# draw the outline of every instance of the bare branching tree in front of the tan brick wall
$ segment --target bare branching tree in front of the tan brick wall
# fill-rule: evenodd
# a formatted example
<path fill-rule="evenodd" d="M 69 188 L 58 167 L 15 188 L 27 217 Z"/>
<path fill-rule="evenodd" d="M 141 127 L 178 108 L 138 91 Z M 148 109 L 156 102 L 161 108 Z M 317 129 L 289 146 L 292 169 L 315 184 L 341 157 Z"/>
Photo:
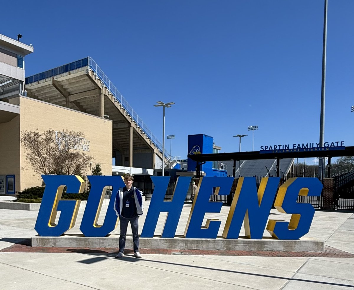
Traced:
<path fill-rule="evenodd" d="M 21 132 L 20 140 L 26 149 L 27 161 L 38 174 L 82 175 L 93 159 L 79 150 L 84 148 L 84 132 L 50 128 L 40 133 L 37 129 Z"/>

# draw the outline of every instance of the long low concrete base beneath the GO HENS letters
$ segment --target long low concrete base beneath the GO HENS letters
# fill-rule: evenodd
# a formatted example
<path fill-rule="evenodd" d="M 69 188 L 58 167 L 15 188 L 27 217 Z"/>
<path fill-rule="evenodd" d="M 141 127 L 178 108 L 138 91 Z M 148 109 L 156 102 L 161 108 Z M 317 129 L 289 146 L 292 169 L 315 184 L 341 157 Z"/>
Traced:
<path fill-rule="evenodd" d="M 178 250 L 226 250 L 226 251 L 291 251 L 291 252 L 323 252 L 325 242 L 301 238 L 300 240 L 277 240 L 263 238 L 252 240 L 247 238 L 224 239 L 186 239 L 175 238 L 140 238 L 142 249 L 178 249 Z M 119 235 L 107 237 L 84 237 L 64 235 L 61 237 L 32 237 L 32 247 L 70 247 L 70 248 L 118 248 Z M 126 237 L 126 248 L 133 248 L 133 239 Z"/>

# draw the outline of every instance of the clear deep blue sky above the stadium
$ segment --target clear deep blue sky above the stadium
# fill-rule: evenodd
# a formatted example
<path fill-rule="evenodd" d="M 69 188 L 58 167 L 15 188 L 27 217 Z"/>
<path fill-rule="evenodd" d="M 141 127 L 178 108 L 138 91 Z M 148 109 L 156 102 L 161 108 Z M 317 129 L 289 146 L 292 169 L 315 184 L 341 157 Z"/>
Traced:
<path fill-rule="evenodd" d="M 319 141 L 324 0 L 5 1 L 1 34 L 32 43 L 26 76 L 91 56 L 172 155 Z M 22 7 L 19 9 L 19 7 Z M 11 13 L 4 13 L 11 11 Z M 17 15 L 17 16 L 16 16 Z M 329 0 L 325 141 L 354 146 L 354 1 Z M 15 17 L 16 16 L 16 17 Z M 4 25 L 5 24 L 5 25 Z M 170 149 L 170 140 L 165 142 Z"/>

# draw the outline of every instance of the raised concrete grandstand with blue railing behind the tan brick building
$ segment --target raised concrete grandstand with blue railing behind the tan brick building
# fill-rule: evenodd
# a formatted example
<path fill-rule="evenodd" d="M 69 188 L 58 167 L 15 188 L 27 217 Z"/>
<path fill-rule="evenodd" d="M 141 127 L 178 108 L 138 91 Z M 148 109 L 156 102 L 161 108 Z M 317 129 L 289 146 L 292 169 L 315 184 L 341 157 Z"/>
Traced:
<path fill-rule="evenodd" d="M 26 77 L 25 88 L 27 97 L 112 120 L 116 167 L 162 164 L 161 142 L 91 57 Z"/>

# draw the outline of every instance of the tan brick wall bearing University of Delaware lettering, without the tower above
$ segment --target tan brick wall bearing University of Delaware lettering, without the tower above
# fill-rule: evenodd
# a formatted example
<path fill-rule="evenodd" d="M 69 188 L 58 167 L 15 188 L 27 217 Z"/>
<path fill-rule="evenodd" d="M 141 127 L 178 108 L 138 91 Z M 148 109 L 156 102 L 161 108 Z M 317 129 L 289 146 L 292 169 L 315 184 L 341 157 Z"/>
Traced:
<path fill-rule="evenodd" d="M 101 164 L 103 175 L 112 175 L 112 121 L 24 96 L 12 98 L 10 102 L 16 105 L 0 104 L 3 114 L 7 110 L 11 113 L 7 115 L 13 117 L 6 120 L 2 117 L 3 121 L 11 120 L 0 123 L 0 175 L 15 176 L 15 192 L 42 183 L 26 161 L 26 151 L 20 143 L 21 132 L 25 130 L 44 132 L 52 128 L 84 132 L 82 142 L 85 144 L 79 150 L 93 156 L 93 165 Z M 90 174 L 90 170 L 86 174 Z"/>

